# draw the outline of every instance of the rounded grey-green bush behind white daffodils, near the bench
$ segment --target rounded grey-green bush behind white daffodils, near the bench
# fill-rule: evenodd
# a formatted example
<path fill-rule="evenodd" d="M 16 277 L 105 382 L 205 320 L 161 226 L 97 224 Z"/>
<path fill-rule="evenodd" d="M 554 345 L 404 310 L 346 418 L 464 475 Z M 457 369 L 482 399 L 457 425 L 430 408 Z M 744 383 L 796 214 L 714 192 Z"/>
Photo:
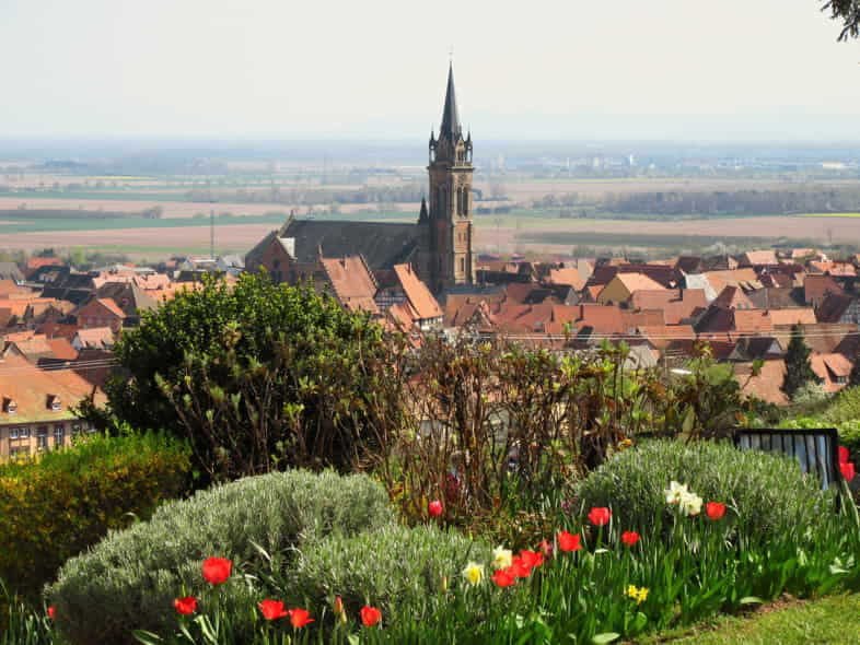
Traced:
<path fill-rule="evenodd" d="M 608 506 L 625 518 L 628 530 L 651 533 L 669 524 L 663 491 L 672 480 L 688 484 L 706 502 L 729 505 L 747 539 L 803 531 L 823 508 L 833 507 L 829 494 L 801 472 L 797 460 L 742 452 L 728 442 L 648 442 L 604 464 L 577 490 L 584 508 Z"/>

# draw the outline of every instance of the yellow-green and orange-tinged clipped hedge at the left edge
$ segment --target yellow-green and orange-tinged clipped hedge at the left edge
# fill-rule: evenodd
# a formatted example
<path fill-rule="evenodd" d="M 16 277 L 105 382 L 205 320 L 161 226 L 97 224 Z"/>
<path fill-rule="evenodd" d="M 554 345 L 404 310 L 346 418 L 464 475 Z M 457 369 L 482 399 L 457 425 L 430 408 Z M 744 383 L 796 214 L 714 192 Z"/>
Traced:
<path fill-rule="evenodd" d="M 31 599 L 109 529 L 183 492 L 188 450 L 164 435 L 93 435 L 0 467 L 0 579 Z"/>

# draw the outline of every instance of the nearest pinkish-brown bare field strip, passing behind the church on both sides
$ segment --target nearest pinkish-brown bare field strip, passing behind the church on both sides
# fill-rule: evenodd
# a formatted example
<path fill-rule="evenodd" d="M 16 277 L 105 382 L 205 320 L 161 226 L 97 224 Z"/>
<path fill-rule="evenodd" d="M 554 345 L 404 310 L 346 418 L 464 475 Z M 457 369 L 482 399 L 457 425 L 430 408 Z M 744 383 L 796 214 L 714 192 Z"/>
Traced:
<path fill-rule="evenodd" d="M 319 215 L 332 221 L 352 219 L 348 213 Z M 358 219 L 358 218 L 355 218 Z M 391 212 L 365 216 L 375 221 L 411 221 L 412 213 Z M 143 224 L 146 222 L 146 224 Z M 216 220 L 216 248 L 220 253 L 246 253 L 280 218 Z M 253 223 L 252 223 L 253 222 Z M 68 221 L 62 222 L 68 224 Z M 13 222 L 11 225 L 20 225 Z M 39 226 L 45 221 L 37 223 Z M 55 224 L 59 225 L 57 222 Z M 77 223 L 75 223 L 77 224 Z M 135 251 L 147 258 L 199 253 L 209 247 L 207 220 L 137 220 L 81 222 L 86 228 L 12 231 L 0 225 L 0 248 L 58 249 L 84 247 Z M 112 225 L 114 227 L 112 227 Z M 118 226 L 124 227 L 118 227 Z M 569 253 L 577 245 L 648 246 L 708 245 L 713 242 L 769 245 L 777 239 L 820 241 L 860 245 L 860 218 L 743 218 L 647 222 L 628 220 L 561 220 L 557 218 L 504 218 L 498 225 L 490 216 L 476 218 L 476 247 L 481 251 L 535 250 Z M 5 228 L 5 232 L 4 232 Z"/>

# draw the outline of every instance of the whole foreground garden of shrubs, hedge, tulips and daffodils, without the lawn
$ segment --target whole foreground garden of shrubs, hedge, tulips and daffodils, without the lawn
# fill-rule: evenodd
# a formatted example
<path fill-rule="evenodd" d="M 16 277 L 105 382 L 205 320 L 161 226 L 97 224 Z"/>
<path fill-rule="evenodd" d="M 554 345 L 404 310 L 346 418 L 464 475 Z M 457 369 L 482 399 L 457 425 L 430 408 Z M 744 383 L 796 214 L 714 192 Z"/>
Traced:
<path fill-rule="evenodd" d="M 611 643 L 860 590 L 850 491 L 727 441 L 776 411 L 707 348 L 670 378 L 625 351 L 416 345 L 256 279 L 179 296 L 84 410 L 104 435 L 0 468 L 0 643 Z"/>

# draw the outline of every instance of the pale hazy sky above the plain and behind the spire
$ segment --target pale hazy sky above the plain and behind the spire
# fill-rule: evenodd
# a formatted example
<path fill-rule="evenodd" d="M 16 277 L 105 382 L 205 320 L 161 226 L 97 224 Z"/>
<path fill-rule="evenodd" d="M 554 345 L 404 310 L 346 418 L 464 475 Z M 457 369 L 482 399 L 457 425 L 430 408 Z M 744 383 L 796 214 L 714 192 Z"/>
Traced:
<path fill-rule="evenodd" d="M 860 140 L 818 0 L 0 0 L 0 137 Z"/>

